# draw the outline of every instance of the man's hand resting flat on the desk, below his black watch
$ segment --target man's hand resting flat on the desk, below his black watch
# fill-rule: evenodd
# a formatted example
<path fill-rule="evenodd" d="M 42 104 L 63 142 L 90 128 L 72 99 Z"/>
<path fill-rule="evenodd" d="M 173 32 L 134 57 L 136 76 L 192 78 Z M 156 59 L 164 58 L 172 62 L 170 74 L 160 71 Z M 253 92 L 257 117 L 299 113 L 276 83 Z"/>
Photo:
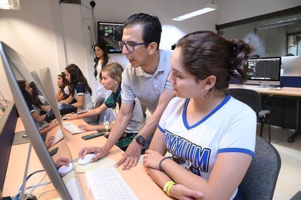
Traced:
<path fill-rule="evenodd" d="M 130 169 L 138 164 L 141 155 L 142 146 L 134 139 L 127 147 L 127 151 L 123 154 L 123 157 L 115 165 L 118 168 L 121 164 L 122 170 Z"/>

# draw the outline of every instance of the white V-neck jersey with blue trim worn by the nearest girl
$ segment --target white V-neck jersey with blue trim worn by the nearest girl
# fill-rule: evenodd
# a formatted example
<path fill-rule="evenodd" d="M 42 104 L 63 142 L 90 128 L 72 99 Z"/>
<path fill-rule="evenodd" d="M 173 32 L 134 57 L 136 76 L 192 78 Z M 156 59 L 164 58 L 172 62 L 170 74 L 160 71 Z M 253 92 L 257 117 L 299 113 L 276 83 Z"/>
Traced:
<path fill-rule="evenodd" d="M 167 151 L 181 157 L 184 168 L 208 180 L 217 154 L 254 156 L 256 114 L 252 108 L 227 95 L 204 119 L 190 126 L 186 118 L 189 100 L 174 97 L 158 125 Z"/>

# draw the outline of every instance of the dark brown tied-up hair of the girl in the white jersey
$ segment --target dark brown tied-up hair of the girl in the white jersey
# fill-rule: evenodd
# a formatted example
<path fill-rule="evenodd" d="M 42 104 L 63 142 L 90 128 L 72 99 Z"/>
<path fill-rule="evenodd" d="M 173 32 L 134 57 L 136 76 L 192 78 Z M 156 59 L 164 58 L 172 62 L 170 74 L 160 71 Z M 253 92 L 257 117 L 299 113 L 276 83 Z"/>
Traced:
<path fill-rule="evenodd" d="M 229 87 L 230 76 L 238 78 L 240 84 L 247 77 L 248 55 L 253 48 L 238 39 L 226 40 L 212 31 L 196 31 L 182 37 L 180 47 L 185 68 L 196 77 L 196 81 L 215 76 L 216 90 Z"/>

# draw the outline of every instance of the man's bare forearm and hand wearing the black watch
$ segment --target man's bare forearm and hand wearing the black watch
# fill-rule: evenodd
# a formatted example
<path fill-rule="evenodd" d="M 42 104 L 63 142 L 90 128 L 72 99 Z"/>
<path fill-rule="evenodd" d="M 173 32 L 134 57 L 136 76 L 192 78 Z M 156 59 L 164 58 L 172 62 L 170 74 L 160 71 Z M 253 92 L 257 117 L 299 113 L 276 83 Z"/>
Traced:
<path fill-rule="evenodd" d="M 174 98 L 174 91 L 165 88 L 163 92 L 161 93 L 158 101 L 158 106 L 151 116 L 151 118 L 146 122 L 146 124 L 143 126 L 142 130 L 139 132 L 138 135 L 142 136 L 145 140 L 153 133 L 155 133 L 159 120 L 167 107 L 168 103 L 172 98 Z M 130 169 L 131 167 L 135 167 L 138 163 L 138 160 L 141 155 L 142 145 L 138 144 L 136 140 L 134 139 L 127 147 L 127 151 L 123 155 L 123 158 L 121 158 L 117 164 L 116 167 L 119 167 L 121 164 L 123 164 L 122 169 Z"/>

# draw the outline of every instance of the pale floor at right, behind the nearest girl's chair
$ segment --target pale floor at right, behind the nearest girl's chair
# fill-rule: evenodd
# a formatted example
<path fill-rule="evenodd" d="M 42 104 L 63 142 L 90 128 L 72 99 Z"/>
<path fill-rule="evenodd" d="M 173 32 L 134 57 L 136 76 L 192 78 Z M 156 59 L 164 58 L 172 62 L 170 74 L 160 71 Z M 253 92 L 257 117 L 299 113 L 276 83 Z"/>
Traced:
<path fill-rule="evenodd" d="M 263 132 L 263 137 L 268 140 L 267 125 L 264 125 Z M 271 143 L 279 152 L 282 162 L 273 200 L 290 200 L 301 190 L 301 135 L 293 143 L 286 141 L 294 132 L 293 129 L 271 126 Z M 139 162 L 143 162 L 143 155 Z"/>

